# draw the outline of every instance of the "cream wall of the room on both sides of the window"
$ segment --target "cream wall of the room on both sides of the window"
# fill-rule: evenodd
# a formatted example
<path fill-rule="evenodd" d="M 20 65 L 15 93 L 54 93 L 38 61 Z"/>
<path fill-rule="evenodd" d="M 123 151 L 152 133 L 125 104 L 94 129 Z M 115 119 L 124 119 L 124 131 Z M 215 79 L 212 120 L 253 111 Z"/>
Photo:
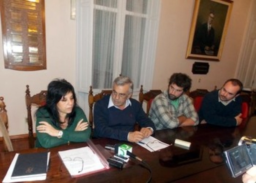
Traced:
<path fill-rule="evenodd" d="M 251 1 L 234 0 L 221 61 L 208 62 L 207 75 L 193 75 L 192 64 L 199 60 L 187 60 L 185 55 L 195 1 L 162 0 L 153 89 L 166 89 L 168 78 L 174 72 L 189 74 L 193 80 L 192 89 L 211 90 L 215 85 L 221 86 L 227 78 L 234 77 Z M 76 21 L 70 20 L 70 0 L 45 0 L 45 14 L 47 70 L 4 69 L 0 44 L 0 96 L 5 98 L 11 135 L 28 132 L 25 123 L 26 84 L 29 84 L 31 94 L 35 94 L 46 89 L 52 79 L 63 77 L 76 88 Z M 199 78 L 201 83 L 197 82 Z M 85 114 L 88 116 L 88 111 Z"/>

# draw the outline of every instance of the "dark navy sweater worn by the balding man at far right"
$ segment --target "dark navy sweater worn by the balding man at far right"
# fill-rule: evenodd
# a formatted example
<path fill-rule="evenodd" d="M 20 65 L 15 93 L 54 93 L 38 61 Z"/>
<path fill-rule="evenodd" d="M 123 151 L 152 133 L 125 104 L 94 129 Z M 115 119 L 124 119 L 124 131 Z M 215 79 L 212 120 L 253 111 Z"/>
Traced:
<path fill-rule="evenodd" d="M 218 90 L 209 92 L 204 96 L 199 110 L 199 120 L 205 120 L 209 124 L 218 126 L 236 126 L 235 117 L 241 113 L 241 96 L 236 97 L 224 106 L 218 101 Z"/>

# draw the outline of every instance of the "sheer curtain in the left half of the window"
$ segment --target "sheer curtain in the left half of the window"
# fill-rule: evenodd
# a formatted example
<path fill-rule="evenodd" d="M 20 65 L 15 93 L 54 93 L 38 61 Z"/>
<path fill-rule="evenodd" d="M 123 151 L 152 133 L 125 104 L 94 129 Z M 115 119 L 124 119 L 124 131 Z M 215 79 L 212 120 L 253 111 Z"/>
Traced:
<path fill-rule="evenodd" d="M 93 11 L 93 88 L 110 88 L 113 81 L 114 44 L 116 34 L 116 0 L 94 0 L 99 9 Z"/>

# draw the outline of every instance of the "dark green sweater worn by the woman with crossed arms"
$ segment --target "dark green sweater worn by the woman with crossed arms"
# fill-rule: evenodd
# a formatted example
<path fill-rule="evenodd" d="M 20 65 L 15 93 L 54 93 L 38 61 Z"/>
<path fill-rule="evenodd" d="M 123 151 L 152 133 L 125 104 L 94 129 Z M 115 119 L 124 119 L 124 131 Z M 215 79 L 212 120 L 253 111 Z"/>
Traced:
<path fill-rule="evenodd" d="M 91 129 L 88 128 L 84 131 L 76 131 L 76 125 L 81 120 L 87 121 L 87 118 L 83 112 L 83 110 L 79 107 L 75 107 L 76 117 L 74 118 L 73 123 L 68 126 L 66 129 L 61 129 L 60 127 L 56 127 L 52 123 L 52 118 L 49 116 L 49 113 L 45 108 L 41 108 L 36 112 L 36 126 L 39 126 L 39 122 L 46 121 L 50 125 L 52 125 L 55 129 L 59 129 L 63 131 L 63 135 L 61 138 L 52 137 L 47 133 L 40 133 L 36 130 L 37 140 L 36 147 L 44 147 L 51 148 L 55 146 L 60 146 L 62 144 L 67 144 L 68 142 L 86 142 L 90 138 Z"/>

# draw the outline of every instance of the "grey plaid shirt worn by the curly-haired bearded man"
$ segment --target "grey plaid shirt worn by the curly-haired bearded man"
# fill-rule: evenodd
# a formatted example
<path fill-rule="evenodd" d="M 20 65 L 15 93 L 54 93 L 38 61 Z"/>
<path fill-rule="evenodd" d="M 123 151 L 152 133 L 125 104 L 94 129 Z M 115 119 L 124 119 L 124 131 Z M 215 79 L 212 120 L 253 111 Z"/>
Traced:
<path fill-rule="evenodd" d="M 191 118 L 198 125 L 198 114 L 195 111 L 192 100 L 182 94 L 179 98 L 177 109 L 170 103 L 167 90 L 154 98 L 149 110 L 149 117 L 154 122 L 157 130 L 174 129 L 179 126 L 177 117 L 185 116 Z"/>

